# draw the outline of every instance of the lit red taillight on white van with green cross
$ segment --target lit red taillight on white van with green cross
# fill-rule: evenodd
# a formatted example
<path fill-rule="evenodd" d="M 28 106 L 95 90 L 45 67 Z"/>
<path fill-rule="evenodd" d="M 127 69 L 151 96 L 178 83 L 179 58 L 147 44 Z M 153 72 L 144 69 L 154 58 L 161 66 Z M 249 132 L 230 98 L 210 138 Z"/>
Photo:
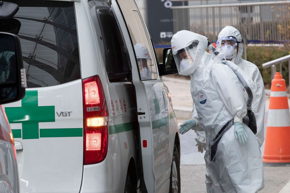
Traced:
<path fill-rule="evenodd" d="M 83 80 L 84 164 L 96 164 L 108 151 L 108 110 L 99 76 Z"/>

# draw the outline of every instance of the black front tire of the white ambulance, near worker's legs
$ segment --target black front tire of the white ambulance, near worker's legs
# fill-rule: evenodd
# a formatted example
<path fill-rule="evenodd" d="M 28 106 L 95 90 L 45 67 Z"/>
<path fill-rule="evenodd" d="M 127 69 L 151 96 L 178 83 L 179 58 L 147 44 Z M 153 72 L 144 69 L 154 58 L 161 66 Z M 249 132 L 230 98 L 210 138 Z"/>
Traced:
<path fill-rule="evenodd" d="M 180 193 L 180 159 L 176 145 L 174 145 L 171 172 L 170 172 L 170 185 L 169 193 Z M 173 172 L 173 173 L 172 173 Z"/>

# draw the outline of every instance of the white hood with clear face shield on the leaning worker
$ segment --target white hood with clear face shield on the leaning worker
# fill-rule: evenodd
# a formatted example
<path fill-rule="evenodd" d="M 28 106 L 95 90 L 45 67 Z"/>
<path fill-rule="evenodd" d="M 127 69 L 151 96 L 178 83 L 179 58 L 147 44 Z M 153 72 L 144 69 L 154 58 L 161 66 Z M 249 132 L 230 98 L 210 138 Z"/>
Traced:
<path fill-rule="evenodd" d="M 205 54 L 207 46 L 208 39 L 206 36 L 187 30 L 182 30 L 174 34 L 171 39 L 172 54 L 180 75 L 188 76 L 194 73 Z M 192 59 L 189 67 L 186 69 L 180 65 L 181 59 L 179 59 L 179 54 L 181 52 L 186 52 Z"/>

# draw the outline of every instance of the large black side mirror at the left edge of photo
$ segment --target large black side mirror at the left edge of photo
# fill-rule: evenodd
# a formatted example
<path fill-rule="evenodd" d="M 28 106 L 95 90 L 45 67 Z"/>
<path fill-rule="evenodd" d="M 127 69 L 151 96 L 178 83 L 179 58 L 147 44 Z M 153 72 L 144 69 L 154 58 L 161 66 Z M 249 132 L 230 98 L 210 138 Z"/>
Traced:
<path fill-rule="evenodd" d="M 25 75 L 18 36 L 0 32 L 0 104 L 24 97 Z"/>

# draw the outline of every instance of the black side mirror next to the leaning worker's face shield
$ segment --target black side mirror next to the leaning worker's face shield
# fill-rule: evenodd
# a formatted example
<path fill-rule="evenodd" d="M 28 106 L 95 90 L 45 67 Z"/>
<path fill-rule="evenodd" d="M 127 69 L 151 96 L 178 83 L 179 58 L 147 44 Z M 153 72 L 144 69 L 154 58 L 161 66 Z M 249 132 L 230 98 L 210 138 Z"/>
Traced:
<path fill-rule="evenodd" d="M 161 73 L 160 73 L 161 71 Z M 163 64 L 159 64 L 159 75 L 165 76 L 170 74 L 177 74 L 178 70 L 172 55 L 171 48 L 163 49 Z"/>

